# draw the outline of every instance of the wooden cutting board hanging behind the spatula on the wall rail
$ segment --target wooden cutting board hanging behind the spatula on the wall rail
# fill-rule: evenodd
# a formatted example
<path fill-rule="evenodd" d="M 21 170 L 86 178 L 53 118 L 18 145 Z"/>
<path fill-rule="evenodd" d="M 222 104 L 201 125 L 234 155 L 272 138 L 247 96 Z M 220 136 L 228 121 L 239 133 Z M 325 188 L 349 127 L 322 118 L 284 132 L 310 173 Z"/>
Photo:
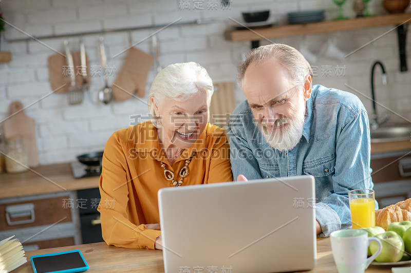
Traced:
<path fill-rule="evenodd" d="M 74 75 L 76 75 L 76 83 L 78 86 L 83 85 L 83 76 L 81 75 L 81 62 L 80 62 L 80 52 L 72 52 L 73 55 L 73 63 L 74 63 Z M 66 57 L 60 54 L 53 54 L 48 57 L 48 73 L 49 73 L 49 82 L 51 86 L 51 90 L 56 90 L 64 83 L 67 85 L 55 93 L 66 93 L 68 88 L 70 87 L 70 76 L 69 74 L 65 73 L 65 69 L 67 67 Z M 86 67 L 87 67 L 87 83 L 86 87 L 90 87 L 90 66 L 88 65 L 88 57 L 86 54 Z M 101 76 L 103 76 L 104 71 L 101 71 Z M 65 75 L 66 74 L 66 75 Z"/>

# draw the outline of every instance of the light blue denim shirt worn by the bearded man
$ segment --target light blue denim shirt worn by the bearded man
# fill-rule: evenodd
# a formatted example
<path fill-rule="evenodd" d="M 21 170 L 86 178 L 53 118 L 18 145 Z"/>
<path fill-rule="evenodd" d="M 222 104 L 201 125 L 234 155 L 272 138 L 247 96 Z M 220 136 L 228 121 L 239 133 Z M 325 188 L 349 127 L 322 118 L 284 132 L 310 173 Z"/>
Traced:
<path fill-rule="evenodd" d="M 281 152 L 267 143 L 248 101 L 242 102 L 228 122 L 231 165 L 235 179 L 313 175 L 315 216 L 324 237 L 351 226 L 348 191 L 373 187 L 369 121 L 357 96 L 320 85 L 312 87 L 305 118 L 300 142 Z"/>

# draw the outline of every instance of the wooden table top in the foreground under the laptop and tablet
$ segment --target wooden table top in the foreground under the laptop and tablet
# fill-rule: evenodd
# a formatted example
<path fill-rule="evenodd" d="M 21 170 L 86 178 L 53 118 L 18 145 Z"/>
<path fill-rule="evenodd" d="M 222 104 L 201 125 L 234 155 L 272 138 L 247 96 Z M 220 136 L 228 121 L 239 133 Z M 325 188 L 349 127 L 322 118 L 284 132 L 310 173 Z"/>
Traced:
<path fill-rule="evenodd" d="M 34 255 L 57 253 L 78 249 L 89 265 L 87 272 L 164 272 L 163 255 L 161 250 L 130 249 L 108 246 L 106 243 L 73 245 L 58 248 L 27 251 L 26 257 Z M 33 272 L 28 261 L 13 270 L 15 273 Z M 317 266 L 306 272 L 330 273 L 337 272 L 332 257 L 330 239 L 317 240 Z M 391 267 L 370 265 L 366 273 L 391 272 Z"/>

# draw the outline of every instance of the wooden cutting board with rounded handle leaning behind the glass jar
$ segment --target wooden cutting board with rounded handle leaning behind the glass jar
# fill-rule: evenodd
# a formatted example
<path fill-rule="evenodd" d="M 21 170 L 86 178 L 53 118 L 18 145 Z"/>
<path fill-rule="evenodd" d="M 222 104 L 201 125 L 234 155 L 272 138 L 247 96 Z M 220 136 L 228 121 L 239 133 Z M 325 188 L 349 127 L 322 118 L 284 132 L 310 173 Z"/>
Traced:
<path fill-rule="evenodd" d="M 23 104 L 20 101 L 13 101 L 10 104 L 11 117 L 3 122 L 4 138 L 7 141 L 14 137 L 23 137 L 29 167 L 36 167 L 39 165 L 39 152 L 35 136 L 35 121 L 26 116 L 22 109 Z"/>

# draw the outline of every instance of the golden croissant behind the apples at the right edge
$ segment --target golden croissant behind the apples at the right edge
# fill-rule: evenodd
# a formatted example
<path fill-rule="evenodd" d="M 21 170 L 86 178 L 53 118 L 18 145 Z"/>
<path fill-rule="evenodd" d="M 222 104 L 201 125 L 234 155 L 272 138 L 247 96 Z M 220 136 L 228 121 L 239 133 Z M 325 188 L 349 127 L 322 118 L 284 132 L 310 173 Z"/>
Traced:
<path fill-rule="evenodd" d="M 385 230 L 390 223 L 402 221 L 411 221 L 411 198 L 376 211 L 376 226 L 381 226 Z"/>

